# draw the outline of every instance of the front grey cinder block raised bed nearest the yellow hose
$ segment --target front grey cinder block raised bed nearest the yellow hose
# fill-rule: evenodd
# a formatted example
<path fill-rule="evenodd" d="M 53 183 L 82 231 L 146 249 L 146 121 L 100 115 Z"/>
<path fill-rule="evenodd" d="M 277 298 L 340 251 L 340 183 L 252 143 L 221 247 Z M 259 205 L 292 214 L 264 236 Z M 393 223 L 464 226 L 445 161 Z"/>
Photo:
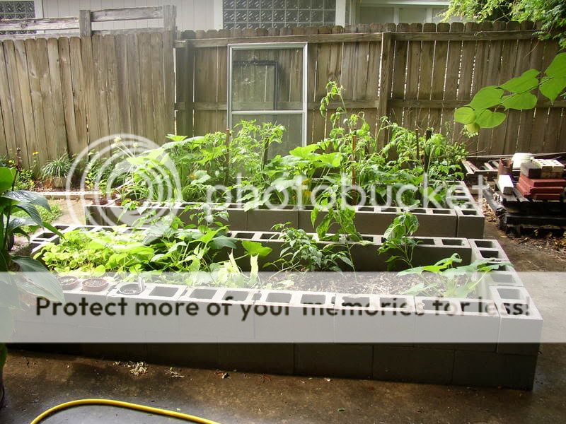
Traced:
<path fill-rule="evenodd" d="M 275 251 L 278 241 L 272 240 L 273 234 L 243 236 L 267 240 Z M 35 249 L 47 240 L 57 242 L 48 236 L 33 240 Z M 430 244 L 420 245 L 428 264 L 435 249 L 440 257 L 459 249 L 464 263 L 488 258 L 501 261 L 502 268 L 492 271 L 478 293 L 466 299 L 173 284 L 147 284 L 140 293 L 122 293 L 122 287 L 131 283 L 110 285 L 106 292 L 95 294 L 79 286 L 67 290 L 66 296 L 87 300 L 98 296 L 106 302 L 137 299 L 171 307 L 194 303 L 199 311 L 225 308 L 230 314 L 202 312 L 154 322 L 152 317 L 134 321 L 126 317 L 112 328 L 97 327 L 96 321 L 88 319 L 74 324 L 46 317 L 33 322 L 33 334 L 40 339 L 42 326 L 51 330 L 60 326 L 68 334 L 77 334 L 78 327 L 88 323 L 108 343 L 83 344 L 83 355 L 249 372 L 531 389 L 542 318 L 519 276 L 505 264 L 507 256 L 499 244 L 429 238 Z M 374 240 L 379 242 L 378 237 Z M 373 269 L 366 265 L 365 270 L 383 270 L 376 256 L 374 246 Z M 249 311 L 246 319 L 243 308 Z M 25 323 L 17 321 L 18 328 Z M 68 334 L 62 335 L 62 341 L 82 340 Z M 115 341 L 132 343 L 111 343 Z"/>

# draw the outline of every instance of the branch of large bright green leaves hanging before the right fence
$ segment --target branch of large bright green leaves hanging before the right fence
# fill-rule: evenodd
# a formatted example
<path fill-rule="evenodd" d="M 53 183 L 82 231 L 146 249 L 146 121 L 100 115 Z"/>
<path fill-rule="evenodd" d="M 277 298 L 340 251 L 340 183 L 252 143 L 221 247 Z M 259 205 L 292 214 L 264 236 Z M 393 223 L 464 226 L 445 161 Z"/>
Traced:
<path fill-rule="evenodd" d="M 477 134 L 482 128 L 493 128 L 502 124 L 507 110 L 527 110 L 536 107 L 536 92 L 550 102 L 559 95 L 565 95 L 566 53 L 559 53 L 548 68 L 541 73 L 529 69 L 500 86 L 487 86 L 475 93 L 472 100 L 454 112 L 456 122 L 466 125 L 470 134 Z M 534 91 L 534 93 L 533 93 Z"/>

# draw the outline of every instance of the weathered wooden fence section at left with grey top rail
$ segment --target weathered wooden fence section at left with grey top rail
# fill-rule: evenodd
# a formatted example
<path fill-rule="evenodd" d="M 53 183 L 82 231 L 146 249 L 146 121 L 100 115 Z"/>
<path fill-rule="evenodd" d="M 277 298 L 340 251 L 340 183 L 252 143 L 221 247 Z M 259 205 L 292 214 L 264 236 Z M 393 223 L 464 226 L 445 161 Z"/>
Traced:
<path fill-rule="evenodd" d="M 91 23 L 163 18 L 163 28 L 93 31 Z M 160 142 L 174 128 L 173 6 L 9 20 L 0 30 L 0 154 L 39 165 L 112 134 Z M 62 33 L 67 31 L 67 33 Z"/>

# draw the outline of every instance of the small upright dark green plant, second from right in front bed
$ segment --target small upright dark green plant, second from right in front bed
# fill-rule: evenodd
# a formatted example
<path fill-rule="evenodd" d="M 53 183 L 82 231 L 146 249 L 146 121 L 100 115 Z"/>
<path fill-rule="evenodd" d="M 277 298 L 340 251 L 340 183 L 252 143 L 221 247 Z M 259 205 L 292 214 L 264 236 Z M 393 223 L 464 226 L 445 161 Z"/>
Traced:
<path fill-rule="evenodd" d="M 410 212 L 404 212 L 393 219 L 383 233 L 383 240 L 378 249 L 380 254 L 388 253 L 388 269 L 394 269 L 400 262 L 403 266 L 412 266 L 412 253 L 417 241 L 412 235 L 419 229 L 419 220 Z"/>

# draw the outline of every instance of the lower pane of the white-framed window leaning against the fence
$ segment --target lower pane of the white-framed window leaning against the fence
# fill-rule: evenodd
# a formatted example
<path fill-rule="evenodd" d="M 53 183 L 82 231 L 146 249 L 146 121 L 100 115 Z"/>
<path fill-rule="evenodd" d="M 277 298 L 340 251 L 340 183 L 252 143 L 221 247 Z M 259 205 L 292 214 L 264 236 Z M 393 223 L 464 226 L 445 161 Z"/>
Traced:
<path fill-rule="evenodd" d="M 288 155 L 291 149 L 302 146 L 303 122 L 301 114 L 279 114 L 279 115 L 238 115 L 232 116 L 232 126 L 234 131 L 238 131 L 236 124 L 241 120 L 251 121 L 255 119 L 256 124 L 272 122 L 273 124 L 283 125 L 286 131 L 283 134 L 281 144 L 273 144 L 269 148 L 269 158 L 275 155 Z"/>

